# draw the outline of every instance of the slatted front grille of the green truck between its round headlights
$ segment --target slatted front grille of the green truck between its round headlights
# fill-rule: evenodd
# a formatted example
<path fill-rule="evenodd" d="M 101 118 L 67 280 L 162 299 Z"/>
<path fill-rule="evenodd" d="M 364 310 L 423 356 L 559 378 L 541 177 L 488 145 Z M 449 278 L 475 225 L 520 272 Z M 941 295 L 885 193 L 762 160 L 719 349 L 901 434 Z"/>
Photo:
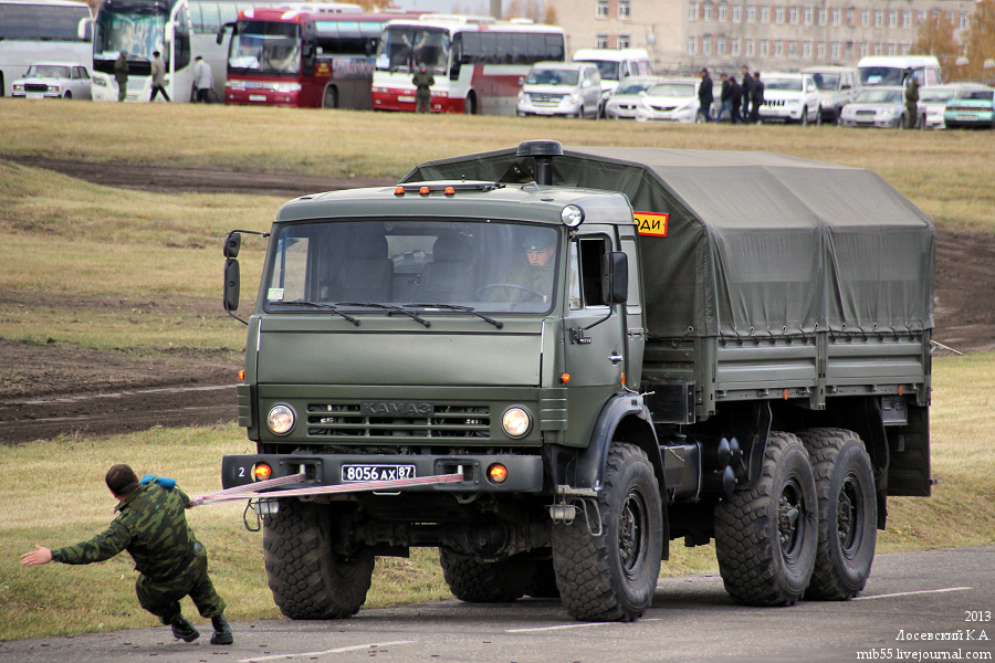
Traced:
<path fill-rule="evenodd" d="M 398 438 L 483 441 L 491 436 L 491 409 L 437 404 L 430 417 L 390 417 L 363 413 L 358 403 L 308 403 L 307 434 L 343 442 L 397 442 Z"/>

